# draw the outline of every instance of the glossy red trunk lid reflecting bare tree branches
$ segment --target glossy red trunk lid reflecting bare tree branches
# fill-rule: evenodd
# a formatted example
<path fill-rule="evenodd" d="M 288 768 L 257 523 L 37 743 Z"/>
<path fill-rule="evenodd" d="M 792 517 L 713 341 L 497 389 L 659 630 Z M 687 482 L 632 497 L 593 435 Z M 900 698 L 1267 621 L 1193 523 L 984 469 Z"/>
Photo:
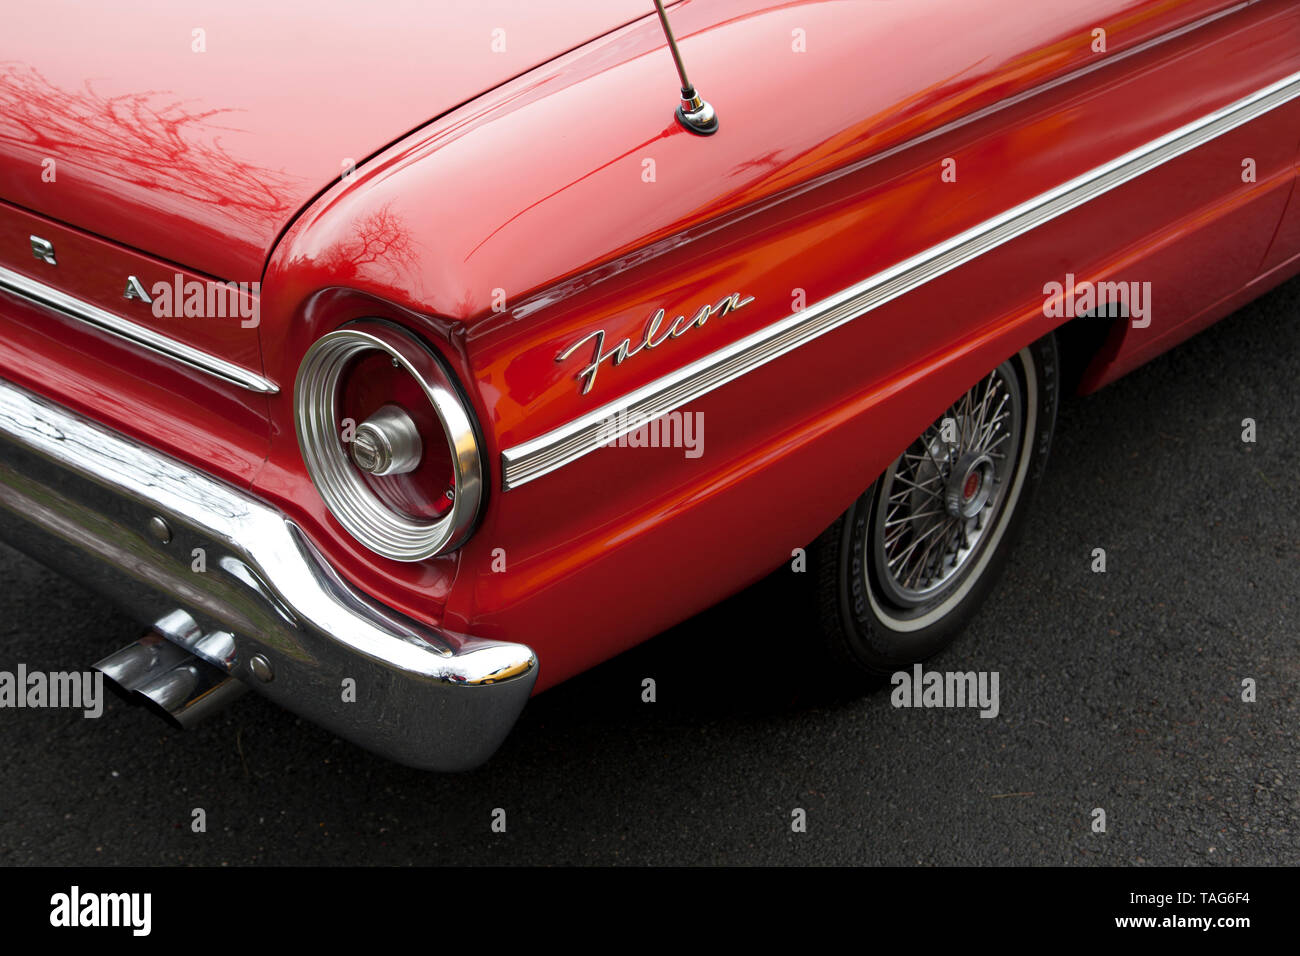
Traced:
<path fill-rule="evenodd" d="M 650 13 L 644 0 L 21 5 L 0 33 L 0 199 L 251 282 L 351 164 Z"/>

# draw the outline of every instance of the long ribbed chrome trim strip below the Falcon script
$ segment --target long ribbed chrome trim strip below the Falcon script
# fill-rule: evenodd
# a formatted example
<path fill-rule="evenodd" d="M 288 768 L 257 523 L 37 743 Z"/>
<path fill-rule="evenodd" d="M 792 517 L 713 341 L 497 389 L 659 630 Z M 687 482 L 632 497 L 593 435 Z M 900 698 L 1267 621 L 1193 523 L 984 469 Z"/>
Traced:
<path fill-rule="evenodd" d="M 506 449 L 502 453 L 502 485 L 510 490 L 562 468 L 602 444 L 722 388 L 1296 98 L 1300 98 L 1300 73 L 1153 139 L 581 418 Z M 620 415 L 624 418 L 618 419 Z"/>

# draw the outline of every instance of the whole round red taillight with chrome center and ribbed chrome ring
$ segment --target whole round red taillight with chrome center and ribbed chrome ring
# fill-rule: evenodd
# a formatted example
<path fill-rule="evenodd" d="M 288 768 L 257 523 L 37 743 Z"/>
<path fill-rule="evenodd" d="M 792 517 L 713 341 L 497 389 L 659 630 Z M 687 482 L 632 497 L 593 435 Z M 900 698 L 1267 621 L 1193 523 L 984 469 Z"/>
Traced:
<path fill-rule="evenodd" d="M 294 386 L 298 445 L 339 524 L 394 561 L 459 546 L 482 493 L 478 441 L 441 360 L 381 321 L 321 337 Z"/>

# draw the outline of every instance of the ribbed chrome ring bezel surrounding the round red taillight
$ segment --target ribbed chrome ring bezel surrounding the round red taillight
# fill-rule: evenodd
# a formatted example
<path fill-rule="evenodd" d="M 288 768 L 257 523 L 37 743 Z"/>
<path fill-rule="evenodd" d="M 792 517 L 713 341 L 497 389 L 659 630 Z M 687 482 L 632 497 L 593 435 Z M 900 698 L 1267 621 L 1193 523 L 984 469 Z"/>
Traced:
<path fill-rule="evenodd" d="M 367 485 L 344 446 L 339 384 L 348 363 L 368 351 L 387 354 L 411 375 L 442 425 L 455 496 L 450 510 L 437 519 L 417 519 L 389 507 Z M 442 360 L 412 333 L 384 320 L 363 320 L 318 338 L 298 367 L 294 427 L 307 473 L 325 506 L 376 554 L 402 562 L 425 561 L 459 548 L 473 532 L 484 489 L 473 419 Z"/>

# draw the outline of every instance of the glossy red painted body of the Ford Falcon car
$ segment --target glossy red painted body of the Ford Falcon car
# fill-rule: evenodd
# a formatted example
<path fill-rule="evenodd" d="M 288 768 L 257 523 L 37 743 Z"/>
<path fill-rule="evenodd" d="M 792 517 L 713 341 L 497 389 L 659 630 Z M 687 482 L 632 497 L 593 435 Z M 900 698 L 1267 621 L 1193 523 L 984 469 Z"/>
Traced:
<path fill-rule="evenodd" d="M 26 7 L 0 38 L 0 265 L 278 392 L 3 285 L 0 378 L 266 503 L 385 607 L 526 645 L 533 692 L 789 561 L 954 395 L 1065 324 L 1045 284 L 1150 284 L 1145 325 L 1066 356 L 1091 390 L 1300 272 L 1287 0 L 682 0 L 707 138 L 673 117 L 640 0 L 74 7 Z M 1132 156 L 1153 165 L 1098 178 Z M 703 414 L 699 458 L 536 454 L 901 264 L 922 268 L 897 294 L 672 406 Z M 127 274 L 177 273 L 260 282 L 259 324 L 122 298 Z M 590 339 L 556 360 L 733 295 L 751 302 L 603 362 L 589 390 Z M 354 538 L 295 436 L 304 354 L 363 317 L 426 341 L 481 432 L 477 527 L 426 561 Z"/>

